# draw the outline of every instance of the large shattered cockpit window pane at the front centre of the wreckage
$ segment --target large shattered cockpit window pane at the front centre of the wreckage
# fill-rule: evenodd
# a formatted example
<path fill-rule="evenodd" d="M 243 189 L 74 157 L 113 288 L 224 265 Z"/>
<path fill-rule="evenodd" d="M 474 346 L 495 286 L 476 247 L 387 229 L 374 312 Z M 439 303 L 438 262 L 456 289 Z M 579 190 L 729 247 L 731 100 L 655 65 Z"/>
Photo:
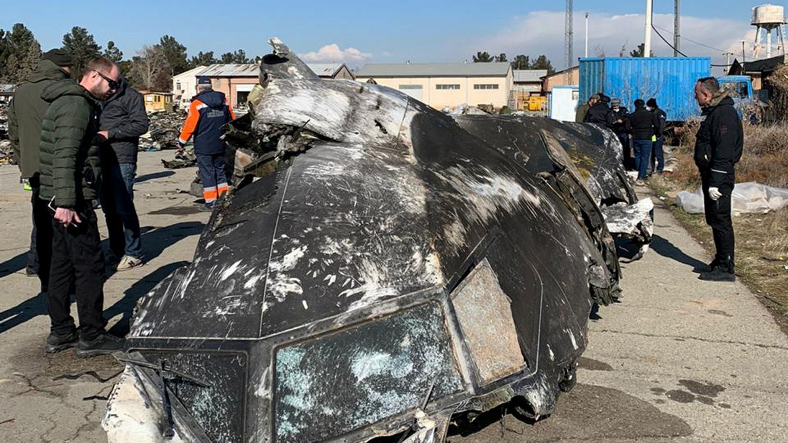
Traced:
<path fill-rule="evenodd" d="M 276 377 L 277 443 L 336 437 L 463 389 L 437 303 L 281 348 Z"/>

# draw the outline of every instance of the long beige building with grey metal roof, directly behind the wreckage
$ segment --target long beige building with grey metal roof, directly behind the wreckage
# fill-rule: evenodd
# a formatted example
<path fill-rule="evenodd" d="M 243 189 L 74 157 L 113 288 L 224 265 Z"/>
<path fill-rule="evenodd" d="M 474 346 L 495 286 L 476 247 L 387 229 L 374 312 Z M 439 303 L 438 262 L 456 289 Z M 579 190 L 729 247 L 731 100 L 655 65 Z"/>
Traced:
<path fill-rule="evenodd" d="M 358 81 L 403 91 L 437 109 L 471 106 L 507 106 L 512 69 L 507 62 L 488 63 L 370 63 L 355 74 Z"/>

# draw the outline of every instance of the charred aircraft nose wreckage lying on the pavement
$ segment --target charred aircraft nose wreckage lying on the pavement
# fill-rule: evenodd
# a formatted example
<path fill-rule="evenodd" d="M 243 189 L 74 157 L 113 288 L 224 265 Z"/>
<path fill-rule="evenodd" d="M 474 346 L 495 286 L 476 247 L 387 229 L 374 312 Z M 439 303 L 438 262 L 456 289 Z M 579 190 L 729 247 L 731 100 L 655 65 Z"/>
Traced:
<path fill-rule="evenodd" d="M 600 205 L 637 197 L 615 137 L 448 116 L 270 43 L 228 134 L 258 178 L 140 300 L 109 440 L 427 442 L 507 402 L 550 414 L 620 292 Z"/>

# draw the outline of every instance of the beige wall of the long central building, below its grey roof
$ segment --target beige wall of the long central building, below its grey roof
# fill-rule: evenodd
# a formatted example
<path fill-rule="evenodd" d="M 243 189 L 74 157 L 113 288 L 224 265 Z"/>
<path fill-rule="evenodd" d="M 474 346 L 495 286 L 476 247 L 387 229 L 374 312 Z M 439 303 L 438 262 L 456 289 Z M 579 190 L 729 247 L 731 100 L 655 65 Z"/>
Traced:
<path fill-rule="evenodd" d="M 366 82 L 370 77 L 357 77 Z M 391 87 L 416 96 L 413 89 L 403 89 L 403 85 L 421 85 L 421 101 L 436 109 L 467 103 L 471 106 L 492 105 L 496 108 L 506 106 L 511 91 L 511 70 L 506 77 L 374 77 L 377 84 Z M 496 85 L 497 89 L 476 89 L 474 85 Z M 452 89 L 438 89 L 438 85 L 451 85 Z M 455 89 L 459 85 L 459 89 Z M 418 91 L 418 90 L 417 90 Z"/>

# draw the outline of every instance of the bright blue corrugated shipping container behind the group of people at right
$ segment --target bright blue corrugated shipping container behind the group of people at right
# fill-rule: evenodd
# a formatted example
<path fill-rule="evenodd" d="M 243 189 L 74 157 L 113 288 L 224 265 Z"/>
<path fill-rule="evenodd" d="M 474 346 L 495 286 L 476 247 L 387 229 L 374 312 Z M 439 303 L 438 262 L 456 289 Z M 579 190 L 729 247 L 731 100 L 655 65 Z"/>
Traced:
<path fill-rule="evenodd" d="M 653 97 L 668 121 L 686 121 L 701 114 L 694 87 L 711 76 L 711 64 L 708 57 L 581 58 L 580 100 L 602 92 L 632 112 L 635 99 Z"/>

